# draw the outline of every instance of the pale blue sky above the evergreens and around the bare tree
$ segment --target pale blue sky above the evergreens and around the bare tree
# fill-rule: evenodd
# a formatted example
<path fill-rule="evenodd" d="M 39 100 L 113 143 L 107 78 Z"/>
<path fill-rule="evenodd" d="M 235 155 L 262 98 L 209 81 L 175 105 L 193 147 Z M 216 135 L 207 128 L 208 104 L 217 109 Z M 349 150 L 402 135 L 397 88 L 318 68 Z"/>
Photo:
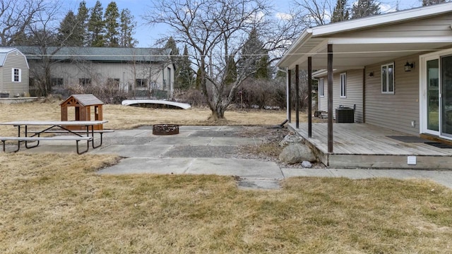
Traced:
<path fill-rule="evenodd" d="M 80 0 L 61 0 L 64 3 L 62 10 L 67 13 L 67 11 L 72 10 L 74 13 L 77 12 L 78 5 Z M 97 0 L 85 0 L 86 6 L 91 8 L 95 5 Z M 107 8 L 108 4 L 112 0 L 100 0 L 102 7 Z M 134 37 L 138 40 L 138 47 L 155 47 L 155 42 L 163 37 L 165 34 L 165 27 L 163 25 L 157 25 L 154 28 L 151 28 L 149 25 L 145 25 L 142 20 L 142 16 L 145 14 L 145 11 L 150 8 L 153 0 L 116 0 L 116 4 L 119 8 L 119 11 L 128 8 L 132 15 L 135 16 L 135 20 L 137 23 L 136 34 Z M 303 0 L 298 0 L 303 1 Z M 323 0 L 322 0 L 323 1 Z M 350 0 L 349 0 L 350 2 Z M 274 0 L 273 4 L 277 8 L 277 11 L 280 13 L 285 13 L 290 6 L 292 6 L 293 0 Z M 414 8 L 421 6 L 421 0 L 383 0 L 380 1 L 381 11 L 386 13 L 388 11 L 396 10 L 396 6 L 399 6 L 400 10 L 407 8 Z M 64 13 L 64 14 L 65 14 Z"/>

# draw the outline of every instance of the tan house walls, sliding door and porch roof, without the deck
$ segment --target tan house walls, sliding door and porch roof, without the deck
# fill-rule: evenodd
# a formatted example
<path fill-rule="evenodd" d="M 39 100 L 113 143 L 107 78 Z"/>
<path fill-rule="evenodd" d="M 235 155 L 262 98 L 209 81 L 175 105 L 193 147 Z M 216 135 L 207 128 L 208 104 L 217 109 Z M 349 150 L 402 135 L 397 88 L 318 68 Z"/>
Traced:
<path fill-rule="evenodd" d="M 452 3 L 309 28 L 278 66 L 321 70 L 333 117 L 355 107 L 355 122 L 452 140 Z"/>

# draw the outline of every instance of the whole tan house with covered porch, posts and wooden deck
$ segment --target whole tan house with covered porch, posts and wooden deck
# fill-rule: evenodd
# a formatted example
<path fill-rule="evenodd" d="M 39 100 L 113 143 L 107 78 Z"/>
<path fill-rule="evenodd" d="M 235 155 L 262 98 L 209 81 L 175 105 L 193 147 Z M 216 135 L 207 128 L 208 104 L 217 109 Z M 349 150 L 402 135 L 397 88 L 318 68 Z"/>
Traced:
<path fill-rule="evenodd" d="M 328 123 L 287 116 L 327 166 L 452 169 L 452 3 L 308 28 L 278 67 L 319 81 Z"/>

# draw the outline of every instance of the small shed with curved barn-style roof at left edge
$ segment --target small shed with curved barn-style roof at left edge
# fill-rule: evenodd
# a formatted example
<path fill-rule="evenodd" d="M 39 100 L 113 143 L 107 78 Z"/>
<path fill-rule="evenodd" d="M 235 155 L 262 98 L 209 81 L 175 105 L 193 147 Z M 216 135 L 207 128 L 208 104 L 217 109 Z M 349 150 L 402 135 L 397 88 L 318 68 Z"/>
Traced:
<path fill-rule="evenodd" d="M 28 69 L 18 49 L 0 48 L 0 97 L 28 97 Z"/>

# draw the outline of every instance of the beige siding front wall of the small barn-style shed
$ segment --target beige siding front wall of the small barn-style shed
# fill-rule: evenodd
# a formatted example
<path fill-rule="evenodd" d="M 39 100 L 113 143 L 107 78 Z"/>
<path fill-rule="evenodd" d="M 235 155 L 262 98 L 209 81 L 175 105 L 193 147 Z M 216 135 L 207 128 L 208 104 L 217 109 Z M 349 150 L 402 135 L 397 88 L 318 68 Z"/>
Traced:
<path fill-rule="evenodd" d="M 21 82 L 12 81 L 12 69 L 19 68 L 21 70 Z M 16 52 L 8 53 L 4 66 L 1 67 L 1 83 L 2 92 L 8 92 L 9 96 L 25 95 L 28 96 L 28 65 L 25 56 L 16 55 Z"/>

